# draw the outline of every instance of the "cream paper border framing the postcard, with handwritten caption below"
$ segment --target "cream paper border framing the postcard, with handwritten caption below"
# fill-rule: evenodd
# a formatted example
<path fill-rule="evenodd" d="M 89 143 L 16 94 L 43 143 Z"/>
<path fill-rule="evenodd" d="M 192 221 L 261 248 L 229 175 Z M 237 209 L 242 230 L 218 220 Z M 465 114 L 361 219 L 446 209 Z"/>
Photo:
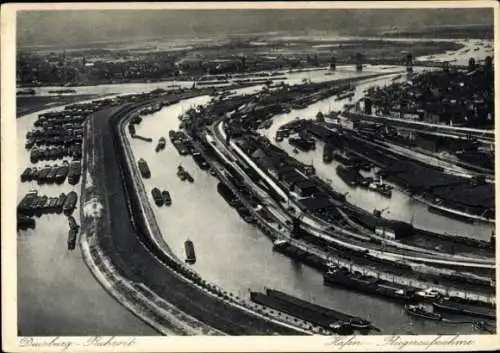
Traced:
<path fill-rule="evenodd" d="M 52 341 L 38 348 L 22 347 L 17 337 L 17 310 L 16 310 L 16 234 L 15 207 L 17 176 L 16 154 L 8 153 L 9 147 L 16 146 L 15 128 L 15 40 L 16 40 L 16 11 L 19 10 L 81 10 L 81 9 L 323 9 L 323 8 L 479 8 L 494 7 L 495 38 L 499 38 L 498 4 L 494 1 L 415 1 L 415 2 L 204 2 L 204 3 L 40 3 L 40 4 L 7 4 L 1 11 L 1 167 L 2 167 L 2 344 L 3 350 L 8 352 L 33 351 L 75 351 L 75 352 L 252 352 L 252 351 L 471 351 L 494 350 L 500 347 L 497 335 L 464 335 L 459 340 L 470 340 L 471 345 L 435 345 L 430 344 L 436 339 L 443 342 L 453 336 L 398 336 L 400 341 L 414 342 L 404 347 L 391 345 L 393 336 L 357 336 L 344 337 L 336 344 L 333 338 L 328 337 L 119 337 L 111 342 L 122 341 L 121 345 L 107 345 L 99 347 L 88 344 L 88 337 L 61 337 L 52 341 L 52 337 L 36 337 L 36 342 Z M 498 68 L 498 45 L 495 41 L 495 66 Z M 498 75 L 495 71 L 495 88 L 498 92 Z M 499 116 L 500 108 L 495 105 L 495 115 Z M 498 129 L 497 129 L 498 130 Z M 498 131 L 496 131 L 498 133 Z M 496 157 L 496 163 L 500 157 Z M 498 178 L 497 178 L 498 181 Z M 500 211 L 497 211 L 500 212 Z M 498 218 L 498 213 L 497 213 Z M 498 232 L 497 232 L 498 233 Z M 498 259 L 497 249 L 497 259 Z M 498 272 L 498 271 L 497 271 Z M 499 279 L 497 273 L 497 283 Z M 104 339 L 104 337 L 103 337 Z M 456 342 L 456 338 L 455 341 Z M 129 344 L 127 344 L 128 342 Z M 56 345 L 56 343 L 60 345 Z M 64 345 L 66 343 L 67 345 Z"/>

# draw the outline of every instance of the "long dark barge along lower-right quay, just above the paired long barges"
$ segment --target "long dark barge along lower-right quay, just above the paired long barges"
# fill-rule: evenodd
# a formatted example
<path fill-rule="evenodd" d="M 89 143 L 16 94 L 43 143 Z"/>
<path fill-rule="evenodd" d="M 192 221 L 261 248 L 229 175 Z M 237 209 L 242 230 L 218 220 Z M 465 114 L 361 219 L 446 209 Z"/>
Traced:
<path fill-rule="evenodd" d="M 361 293 L 377 295 L 395 301 L 413 301 L 414 290 L 406 286 L 385 282 L 376 277 L 360 273 L 350 273 L 344 267 L 332 267 L 323 276 L 325 285 L 333 285 L 356 290 Z"/>

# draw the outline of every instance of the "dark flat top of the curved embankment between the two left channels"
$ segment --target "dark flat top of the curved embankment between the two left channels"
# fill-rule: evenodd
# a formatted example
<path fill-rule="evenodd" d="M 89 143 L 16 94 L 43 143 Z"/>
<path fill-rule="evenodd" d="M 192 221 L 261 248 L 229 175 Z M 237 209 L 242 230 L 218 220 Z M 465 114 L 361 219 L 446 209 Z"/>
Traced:
<path fill-rule="evenodd" d="M 297 334 L 296 331 L 239 310 L 208 296 L 198 287 L 181 280 L 151 249 L 139 239 L 122 183 L 119 161 L 123 156 L 116 149 L 117 124 L 125 116 L 95 114 L 94 134 L 102 144 L 100 170 L 94 176 L 100 194 L 108 204 L 110 232 L 103 241 L 107 254 L 120 274 L 130 281 L 147 283 L 148 287 L 169 303 L 196 319 L 231 335 Z M 99 185 L 100 184 L 100 185 Z"/>

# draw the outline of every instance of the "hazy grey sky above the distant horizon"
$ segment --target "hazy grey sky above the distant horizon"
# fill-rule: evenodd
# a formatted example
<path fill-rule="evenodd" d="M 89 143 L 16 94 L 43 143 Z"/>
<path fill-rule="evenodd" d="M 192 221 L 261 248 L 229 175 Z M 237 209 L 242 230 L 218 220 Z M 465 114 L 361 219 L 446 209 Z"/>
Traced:
<path fill-rule="evenodd" d="M 369 33 L 373 29 L 492 24 L 492 9 L 21 11 L 20 47 L 256 32 Z"/>

